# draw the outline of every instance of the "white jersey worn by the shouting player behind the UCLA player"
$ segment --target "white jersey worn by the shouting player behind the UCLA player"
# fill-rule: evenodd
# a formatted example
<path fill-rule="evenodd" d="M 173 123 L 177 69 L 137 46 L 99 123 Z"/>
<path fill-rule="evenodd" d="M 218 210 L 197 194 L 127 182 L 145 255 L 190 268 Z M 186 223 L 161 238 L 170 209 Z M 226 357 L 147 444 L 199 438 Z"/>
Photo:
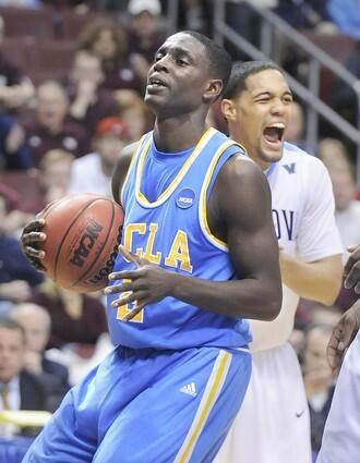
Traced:
<path fill-rule="evenodd" d="M 281 159 L 265 173 L 272 190 L 275 231 L 284 253 L 309 263 L 343 254 L 332 181 L 323 162 L 285 143 Z M 266 322 L 250 321 L 253 351 L 276 348 L 289 339 L 299 298 L 283 285 L 278 317 Z"/>

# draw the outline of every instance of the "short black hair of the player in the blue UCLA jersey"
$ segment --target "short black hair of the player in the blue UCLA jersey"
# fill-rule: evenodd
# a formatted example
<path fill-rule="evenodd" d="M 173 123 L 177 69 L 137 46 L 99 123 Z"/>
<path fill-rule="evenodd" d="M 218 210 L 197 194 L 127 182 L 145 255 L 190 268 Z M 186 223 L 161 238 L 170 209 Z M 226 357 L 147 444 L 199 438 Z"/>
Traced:
<path fill-rule="evenodd" d="M 230 54 L 223 47 L 215 44 L 214 40 L 203 34 L 194 31 L 182 31 L 182 33 L 192 36 L 205 47 L 212 77 L 223 81 L 223 94 L 228 84 L 231 72 Z"/>

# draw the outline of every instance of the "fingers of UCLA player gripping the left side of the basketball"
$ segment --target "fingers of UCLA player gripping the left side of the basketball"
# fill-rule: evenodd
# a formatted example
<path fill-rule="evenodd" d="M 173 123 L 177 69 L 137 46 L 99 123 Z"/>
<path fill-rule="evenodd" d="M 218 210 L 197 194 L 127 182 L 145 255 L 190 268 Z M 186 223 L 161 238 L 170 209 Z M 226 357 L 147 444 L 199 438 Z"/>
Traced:
<path fill-rule="evenodd" d="M 45 271 L 41 259 L 45 252 L 37 248 L 37 245 L 46 240 L 46 234 L 41 232 L 45 226 L 44 219 L 34 219 L 24 227 L 21 235 L 21 246 L 28 261 L 39 271 Z"/>

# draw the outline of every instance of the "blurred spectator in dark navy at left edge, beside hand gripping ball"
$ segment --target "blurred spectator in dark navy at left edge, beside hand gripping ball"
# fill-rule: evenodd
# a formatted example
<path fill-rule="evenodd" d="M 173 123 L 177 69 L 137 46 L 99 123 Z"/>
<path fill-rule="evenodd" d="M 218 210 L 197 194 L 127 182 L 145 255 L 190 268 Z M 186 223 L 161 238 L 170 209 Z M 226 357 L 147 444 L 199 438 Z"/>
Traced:
<path fill-rule="evenodd" d="M 7 313 L 13 303 L 27 301 L 32 288 L 43 281 L 21 251 L 19 240 L 4 230 L 9 214 L 7 195 L 0 190 L 0 312 Z"/>

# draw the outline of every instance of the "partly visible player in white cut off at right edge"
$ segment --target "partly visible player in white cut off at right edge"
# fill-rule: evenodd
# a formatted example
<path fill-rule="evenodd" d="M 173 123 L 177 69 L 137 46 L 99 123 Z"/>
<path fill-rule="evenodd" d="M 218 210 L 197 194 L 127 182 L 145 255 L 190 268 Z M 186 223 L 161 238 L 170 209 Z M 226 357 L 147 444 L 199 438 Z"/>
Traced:
<path fill-rule="evenodd" d="M 360 245 L 345 267 L 345 287 L 360 294 Z M 360 455 L 360 300 L 341 317 L 327 348 L 331 366 L 338 369 L 332 407 L 316 463 L 358 463 Z M 353 339 L 353 340 L 352 340 Z M 352 341 L 352 342 L 351 342 Z"/>

